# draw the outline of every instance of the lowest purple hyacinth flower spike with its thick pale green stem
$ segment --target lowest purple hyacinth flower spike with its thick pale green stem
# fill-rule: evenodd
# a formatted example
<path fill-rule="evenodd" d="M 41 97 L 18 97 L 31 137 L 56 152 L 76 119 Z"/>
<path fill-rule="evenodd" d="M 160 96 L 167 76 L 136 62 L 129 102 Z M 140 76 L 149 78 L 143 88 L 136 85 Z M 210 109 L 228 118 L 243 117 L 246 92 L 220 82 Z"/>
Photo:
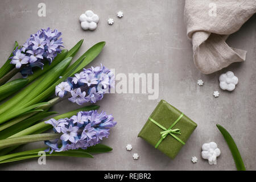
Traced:
<path fill-rule="evenodd" d="M 0 140 L 0 149 L 20 144 L 44 141 L 48 146 L 46 152 L 61 152 L 67 150 L 86 149 L 100 143 L 103 138 L 109 137 L 110 128 L 117 123 L 112 114 L 97 110 L 79 111 L 71 118 L 49 119 L 46 124 L 53 126 L 55 133 L 25 135 Z M 61 143 L 61 146 L 60 146 Z"/>

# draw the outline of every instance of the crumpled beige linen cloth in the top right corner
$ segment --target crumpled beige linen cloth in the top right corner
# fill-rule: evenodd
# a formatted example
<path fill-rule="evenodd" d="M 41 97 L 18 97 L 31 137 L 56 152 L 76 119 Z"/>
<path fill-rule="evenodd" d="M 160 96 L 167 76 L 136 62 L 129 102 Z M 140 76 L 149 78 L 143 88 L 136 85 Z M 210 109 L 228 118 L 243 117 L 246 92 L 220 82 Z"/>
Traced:
<path fill-rule="evenodd" d="M 246 51 L 229 47 L 225 40 L 254 13 L 256 0 L 186 0 L 184 20 L 197 69 L 209 74 L 245 61 Z"/>

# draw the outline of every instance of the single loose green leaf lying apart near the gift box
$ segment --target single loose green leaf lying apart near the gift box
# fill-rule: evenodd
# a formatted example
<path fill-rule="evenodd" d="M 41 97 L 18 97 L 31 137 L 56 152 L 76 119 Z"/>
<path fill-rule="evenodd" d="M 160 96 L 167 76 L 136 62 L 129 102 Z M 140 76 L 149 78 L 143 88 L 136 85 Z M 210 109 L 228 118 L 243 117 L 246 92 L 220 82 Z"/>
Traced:
<path fill-rule="evenodd" d="M 221 134 L 223 135 L 224 139 L 226 140 L 226 143 L 229 146 L 229 149 L 233 155 L 234 158 L 234 162 L 236 163 L 236 167 L 238 171 L 245 171 L 245 165 L 243 164 L 243 160 L 241 157 L 241 154 L 237 148 L 236 143 L 234 142 L 234 139 L 232 138 L 232 136 L 228 133 L 228 131 L 226 129 L 224 129 L 224 127 L 222 127 L 221 125 L 216 125 L 218 130 L 220 130 Z"/>

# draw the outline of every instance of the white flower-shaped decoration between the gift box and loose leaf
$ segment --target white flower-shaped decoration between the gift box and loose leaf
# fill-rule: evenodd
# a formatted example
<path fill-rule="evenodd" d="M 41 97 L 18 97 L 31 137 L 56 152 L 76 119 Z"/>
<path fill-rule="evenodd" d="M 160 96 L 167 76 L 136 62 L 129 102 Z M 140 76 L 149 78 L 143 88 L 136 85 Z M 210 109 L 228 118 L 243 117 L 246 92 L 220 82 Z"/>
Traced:
<path fill-rule="evenodd" d="M 202 158 L 208 159 L 210 165 L 217 164 L 217 157 L 220 156 L 220 148 L 215 142 L 204 143 L 202 146 Z"/>

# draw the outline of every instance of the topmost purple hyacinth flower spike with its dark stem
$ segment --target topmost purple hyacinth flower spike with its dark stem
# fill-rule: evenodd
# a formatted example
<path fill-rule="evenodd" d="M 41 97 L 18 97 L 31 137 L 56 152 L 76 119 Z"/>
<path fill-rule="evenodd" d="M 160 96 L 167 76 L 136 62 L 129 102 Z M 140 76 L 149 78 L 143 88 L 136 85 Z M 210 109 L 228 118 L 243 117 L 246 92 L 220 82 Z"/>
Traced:
<path fill-rule="evenodd" d="M 57 54 L 61 53 L 60 48 L 64 47 L 62 39 L 59 38 L 61 35 L 61 32 L 48 27 L 32 34 L 22 47 L 16 47 L 10 57 L 10 64 L 14 64 L 15 68 L 0 78 L 0 85 L 5 84 L 18 72 L 23 77 L 32 75 L 32 68 L 43 69 L 46 60 L 51 64 Z"/>

